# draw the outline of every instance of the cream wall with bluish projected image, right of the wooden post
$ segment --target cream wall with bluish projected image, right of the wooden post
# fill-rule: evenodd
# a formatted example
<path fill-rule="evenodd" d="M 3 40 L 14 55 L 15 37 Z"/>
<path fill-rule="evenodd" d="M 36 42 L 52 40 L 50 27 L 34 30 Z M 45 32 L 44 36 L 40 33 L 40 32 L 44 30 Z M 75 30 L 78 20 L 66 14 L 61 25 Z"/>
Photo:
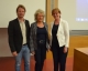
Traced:
<path fill-rule="evenodd" d="M 79 11 L 79 13 L 81 12 L 80 17 L 84 14 L 88 19 L 88 2 L 86 2 L 88 0 L 81 1 L 79 2 L 79 4 L 82 3 L 80 9 L 77 9 L 77 0 L 58 0 L 58 8 L 62 11 L 62 18 L 68 21 L 70 30 L 88 30 L 88 20 L 76 21 L 78 16 L 77 11 Z M 81 9 L 82 7 L 84 9 Z"/>

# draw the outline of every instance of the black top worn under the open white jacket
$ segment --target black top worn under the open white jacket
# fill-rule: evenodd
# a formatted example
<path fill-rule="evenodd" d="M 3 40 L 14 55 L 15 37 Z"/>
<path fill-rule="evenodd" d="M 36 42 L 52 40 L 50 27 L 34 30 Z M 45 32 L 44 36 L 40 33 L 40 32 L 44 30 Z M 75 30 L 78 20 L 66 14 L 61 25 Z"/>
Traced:
<path fill-rule="evenodd" d="M 57 30 L 58 30 L 58 24 L 54 24 L 53 29 L 52 29 L 52 36 L 53 36 L 52 47 L 57 47 L 58 45 L 58 40 L 57 40 L 57 37 L 56 37 Z"/>

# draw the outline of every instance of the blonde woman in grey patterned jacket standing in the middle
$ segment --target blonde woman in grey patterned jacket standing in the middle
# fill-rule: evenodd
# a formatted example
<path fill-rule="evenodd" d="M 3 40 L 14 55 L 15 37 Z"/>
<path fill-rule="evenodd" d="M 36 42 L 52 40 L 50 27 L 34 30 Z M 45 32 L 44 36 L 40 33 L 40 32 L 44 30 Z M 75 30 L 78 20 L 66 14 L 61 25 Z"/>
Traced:
<path fill-rule="evenodd" d="M 38 9 L 35 14 L 35 22 L 31 24 L 30 45 L 35 58 L 35 71 L 42 71 L 46 50 L 48 49 L 47 24 L 44 21 L 44 11 Z"/>

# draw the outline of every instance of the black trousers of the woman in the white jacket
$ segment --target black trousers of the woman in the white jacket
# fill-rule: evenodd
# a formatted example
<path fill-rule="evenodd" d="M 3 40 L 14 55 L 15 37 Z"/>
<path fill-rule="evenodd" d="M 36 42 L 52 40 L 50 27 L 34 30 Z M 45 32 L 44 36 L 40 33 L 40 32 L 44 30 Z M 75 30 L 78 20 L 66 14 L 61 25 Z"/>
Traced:
<path fill-rule="evenodd" d="M 53 61 L 54 61 L 54 71 L 65 71 L 65 65 L 66 65 L 66 58 L 67 58 L 67 52 L 64 53 L 64 48 L 65 47 L 53 47 L 52 52 L 53 52 Z"/>

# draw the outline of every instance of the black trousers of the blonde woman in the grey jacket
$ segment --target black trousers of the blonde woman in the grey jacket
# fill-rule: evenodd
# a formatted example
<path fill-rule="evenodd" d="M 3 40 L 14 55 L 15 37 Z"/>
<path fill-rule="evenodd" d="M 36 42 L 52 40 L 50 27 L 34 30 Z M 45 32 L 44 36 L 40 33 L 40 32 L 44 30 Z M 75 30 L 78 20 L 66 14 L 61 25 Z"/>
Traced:
<path fill-rule="evenodd" d="M 42 71 L 44 60 L 46 58 L 46 44 L 44 45 L 37 45 L 37 49 L 35 50 L 35 71 Z"/>

